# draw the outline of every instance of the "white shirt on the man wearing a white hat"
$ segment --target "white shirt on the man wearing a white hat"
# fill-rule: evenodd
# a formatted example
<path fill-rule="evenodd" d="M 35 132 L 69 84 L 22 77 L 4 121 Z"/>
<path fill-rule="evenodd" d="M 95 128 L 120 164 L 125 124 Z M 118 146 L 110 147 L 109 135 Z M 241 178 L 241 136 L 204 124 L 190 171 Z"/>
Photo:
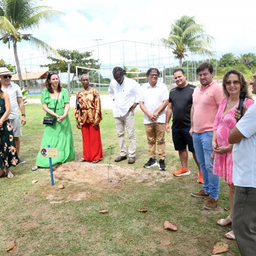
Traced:
<path fill-rule="evenodd" d="M 2 86 L 2 91 L 8 93 L 10 97 L 11 113 L 9 118 L 10 119 L 18 118 L 20 115 L 19 115 L 19 104 L 18 104 L 17 97 L 22 98 L 22 92 L 20 90 L 20 86 L 18 84 L 11 82 L 8 88 L 4 88 L 4 86 Z"/>

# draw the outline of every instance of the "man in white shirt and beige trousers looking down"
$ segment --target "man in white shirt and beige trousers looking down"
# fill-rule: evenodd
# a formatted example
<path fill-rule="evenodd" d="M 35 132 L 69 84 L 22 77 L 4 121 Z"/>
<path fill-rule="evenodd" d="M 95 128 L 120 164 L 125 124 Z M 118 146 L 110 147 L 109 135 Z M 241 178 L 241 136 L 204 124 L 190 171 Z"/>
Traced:
<path fill-rule="evenodd" d="M 128 163 L 136 161 L 136 138 L 134 129 L 134 109 L 138 105 L 138 91 L 140 84 L 131 78 L 125 77 L 125 70 L 121 67 L 113 68 L 114 79 L 109 84 L 109 95 L 114 101 L 113 116 L 115 117 L 116 131 L 120 146 L 120 154 L 115 162 L 127 159 L 125 145 L 125 127 L 129 136 Z"/>

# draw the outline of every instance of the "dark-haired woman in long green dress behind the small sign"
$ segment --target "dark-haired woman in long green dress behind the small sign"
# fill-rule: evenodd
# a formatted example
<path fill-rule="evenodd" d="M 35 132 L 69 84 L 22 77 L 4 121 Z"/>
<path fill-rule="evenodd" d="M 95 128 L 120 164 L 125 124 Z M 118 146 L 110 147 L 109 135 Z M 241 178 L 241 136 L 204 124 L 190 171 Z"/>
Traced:
<path fill-rule="evenodd" d="M 65 88 L 61 88 L 58 74 L 49 72 L 45 81 L 46 89 L 42 91 L 41 103 L 46 116 L 56 118 L 54 125 L 45 125 L 41 148 L 58 148 L 58 158 L 52 158 L 52 165 L 65 163 L 75 159 L 73 134 L 68 118 L 69 95 Z M 56 107 L 56 111 L 54 111 Z M 49 168 L 49 158 L 42 157 L 38 152 L 36 165 L 32 171 L 38 168 Z"/>

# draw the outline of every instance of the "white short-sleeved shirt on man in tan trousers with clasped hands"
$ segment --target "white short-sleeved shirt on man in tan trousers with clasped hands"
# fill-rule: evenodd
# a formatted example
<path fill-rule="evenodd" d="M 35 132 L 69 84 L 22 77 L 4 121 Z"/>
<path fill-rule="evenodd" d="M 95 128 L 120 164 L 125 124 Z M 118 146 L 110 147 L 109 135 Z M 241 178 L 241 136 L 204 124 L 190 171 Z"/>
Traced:
<path fill-rule="evenodd" d="M 144 102 L 145 108 L 148 112 L 155 113 L 157 109 L 163 104 L 164 100 L 169 100 L 169 93 L 164 83 L 157 81 L 154 87 L 151 87 L 149 83 L 143 84 L 139 91 L 139 100 Z M 150 121 L 148 116 L 144 113 L 143 123 L 161 123 L 165 124 L 166 108 L 159 114 L 154 122 Z"/>

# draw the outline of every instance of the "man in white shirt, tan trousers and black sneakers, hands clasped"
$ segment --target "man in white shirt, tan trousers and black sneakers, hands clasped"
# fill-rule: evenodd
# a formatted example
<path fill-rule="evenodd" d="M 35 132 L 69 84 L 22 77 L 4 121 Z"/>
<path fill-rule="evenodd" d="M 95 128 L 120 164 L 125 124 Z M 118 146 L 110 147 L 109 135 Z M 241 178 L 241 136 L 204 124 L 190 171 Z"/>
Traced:
<path fill-rule="evenodd" d="M 143 122 L 148 139 L 149 160 L 144 168 L 157 166 L 156 144 L 159 156 L 159 170 L 166 170 L 164 163 L 165 141 L 164 128 L 166 119 L 166 106 L 168 105 L 169 93 L 164 83 L 158 81 L 160 72 L 157 68 L 149 68 L 146 76 L 147 84 L 140 88 L 140 108 L 144 112 Z"/>

